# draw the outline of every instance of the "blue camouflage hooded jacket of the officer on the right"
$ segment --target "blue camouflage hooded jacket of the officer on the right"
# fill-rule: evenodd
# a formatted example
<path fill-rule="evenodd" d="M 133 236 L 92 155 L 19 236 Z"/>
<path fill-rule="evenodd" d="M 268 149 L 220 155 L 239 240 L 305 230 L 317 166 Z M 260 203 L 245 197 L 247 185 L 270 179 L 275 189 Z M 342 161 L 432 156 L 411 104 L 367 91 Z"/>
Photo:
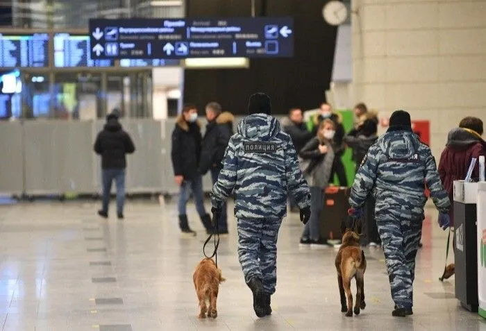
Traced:
<path fill-rule="evenodd" d="M 376 198 L 376 219 L 422 221 L 425 184 L 439 212 L 451 202 L 442 186 L 430 148 L 412 130 L 390 128 L 369 148 L 355 176 L 349 203 L 362 207 L 370 192 Z"/>

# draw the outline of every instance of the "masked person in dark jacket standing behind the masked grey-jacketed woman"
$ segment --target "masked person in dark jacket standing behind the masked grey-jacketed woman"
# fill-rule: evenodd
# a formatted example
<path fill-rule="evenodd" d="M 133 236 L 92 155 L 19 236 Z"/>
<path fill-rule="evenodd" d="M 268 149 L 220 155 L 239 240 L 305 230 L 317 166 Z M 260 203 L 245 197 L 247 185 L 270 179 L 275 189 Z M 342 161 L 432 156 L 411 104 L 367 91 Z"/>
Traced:
<path fill-rule="evenodd" d="M 319 112 L 310 118 L 308 121 L 308 130 L 315 133 L 317 128 L 321 125 L 324 119 L 330 119 L 334 122 L 335 135 L 332 139 L 333 150 L 335 153 L 333 173 L 330 178 L 334 177 L 334 173 L 337 175 L 337 180 L 341 186 L 348 186 L 348 179 L 346 178 L 346 169 L 344 169 L 344 164 L 342 163 L 341 157 L 344 154 L 346 146 L 344 146 L 344 126 L 342 125 L 342 116 L 337 112 L 333 112 L 333 108 L 329 103 L 322 103 L 319 108 Z"/>

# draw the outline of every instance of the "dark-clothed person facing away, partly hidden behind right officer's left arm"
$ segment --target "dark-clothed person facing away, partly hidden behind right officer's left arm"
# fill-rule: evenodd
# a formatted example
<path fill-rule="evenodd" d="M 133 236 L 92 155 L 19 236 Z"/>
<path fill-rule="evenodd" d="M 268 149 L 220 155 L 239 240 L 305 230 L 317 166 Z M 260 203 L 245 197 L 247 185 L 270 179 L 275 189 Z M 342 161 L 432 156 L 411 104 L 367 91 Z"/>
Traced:
<path fill-rule="evenodd" d="M 369 114 L 369 112 L 365 112 L 364 114 Z M 356 164 L 356 173 L 358 173 L 358 169 L 360 169 L 361 162 L 367 154 L 369 147 L 371 147 L 378 139 L 378 135 L 376 135 L 377 131 L 378 122 L 373 117 L 370 117 L 365 119 L 361 124 L 358 124 L 357 128 L 351 130 L 344 136 L 344 144 L 353 149 L 353 161 Z M 371 247 L 381 245 L 381 239 L 378 234 L 374 215 L 375 200 L 374 197 L 370 195 L 364 204 L 364 224 L 362 231 L 366 235 L 361 237 L 362 245 L 369 245 Z"/>

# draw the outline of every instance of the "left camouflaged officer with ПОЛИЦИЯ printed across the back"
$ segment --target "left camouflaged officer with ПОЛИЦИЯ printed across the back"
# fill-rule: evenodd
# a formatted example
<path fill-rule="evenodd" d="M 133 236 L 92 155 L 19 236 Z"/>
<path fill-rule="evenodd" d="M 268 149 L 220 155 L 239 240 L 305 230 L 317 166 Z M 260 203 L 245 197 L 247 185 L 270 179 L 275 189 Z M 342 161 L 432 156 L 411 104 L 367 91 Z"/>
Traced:
<path fill-rule="evenodd" d="M 270 116 L 266 94 L 253 94 L 249 116 L 238 124 L 224 157 L 224 168 L 212 189 L 212 212 L 217 219 L 224 201 L 235 190 L 238 256 L 246 284 L 253 292 L 258 317 L 271 314 L 270 296 L 277 280 L 277 237 L 287 214 L 287 192 L 310 217 L 310 190 L 299 169 L 292 139 Z"/>

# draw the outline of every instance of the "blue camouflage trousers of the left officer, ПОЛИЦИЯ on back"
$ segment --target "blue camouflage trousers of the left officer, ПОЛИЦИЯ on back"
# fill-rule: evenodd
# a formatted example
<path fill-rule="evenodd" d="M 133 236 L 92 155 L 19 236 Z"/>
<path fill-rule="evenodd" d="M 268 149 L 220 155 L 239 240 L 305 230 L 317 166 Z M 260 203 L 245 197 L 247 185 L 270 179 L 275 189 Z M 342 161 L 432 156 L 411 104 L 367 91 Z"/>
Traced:
<path fill-rule="evenodd" d="M 277 238 L 281 219 L 238 219 L 238 257 L 246 284 L 252 278 L 263 283 L 268 294 L 277 282 Z"/>

